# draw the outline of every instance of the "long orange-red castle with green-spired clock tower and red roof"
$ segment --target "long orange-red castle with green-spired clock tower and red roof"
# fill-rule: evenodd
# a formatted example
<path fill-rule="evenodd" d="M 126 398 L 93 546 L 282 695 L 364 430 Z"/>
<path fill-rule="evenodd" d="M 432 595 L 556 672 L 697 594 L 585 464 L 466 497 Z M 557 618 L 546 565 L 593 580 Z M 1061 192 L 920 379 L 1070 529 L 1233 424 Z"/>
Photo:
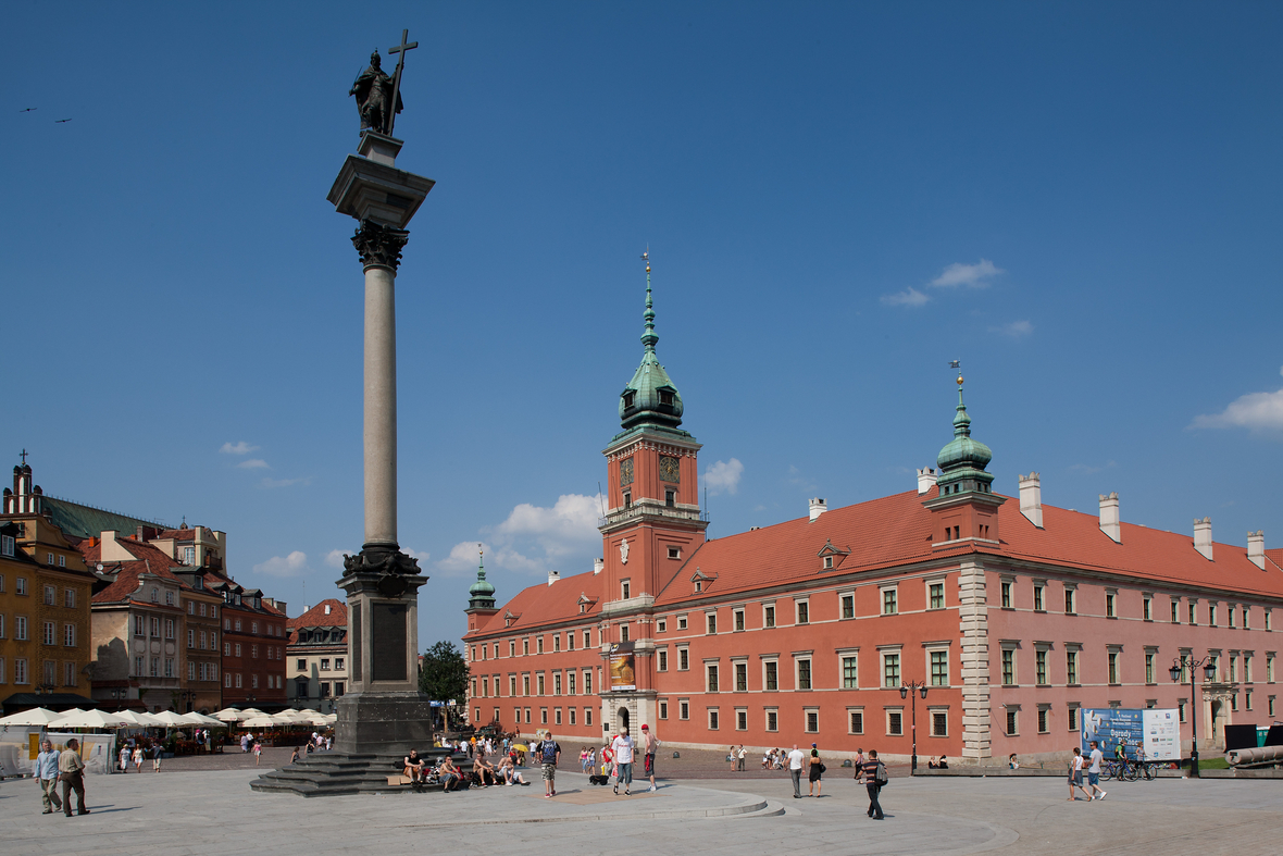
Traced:
<path fill-rule="evenodd" d="M 992 452 L 962 402 L 916 490 L 716 540 L 698 504 L 699 444 L 656 358 L 604 449 L 609 506 L 591 572 L 497 607 L 484 571 L 463 637 L 470 717 L 568 740 L 645 723 L 668 746 L 819 743 L 964 762 L 1062 757 L 1079 711 L 1179 711 L 1188 755 L 1227 724 L 1278 716 L 1283 551 L 1043 506 L 1041 479 L 992 492 Z M 1209 660 L 1197 693 L 1174 661 Z M 613 665 L 613 669 L 612 669 Z M 612 680 L 613 674 L 613 680 Z M 626 683 L 625 683 L 626 681 Z M 622 683 L 622 685 L 621 685 Z M 925 687 L 925 693 L 902 688 Z"/>

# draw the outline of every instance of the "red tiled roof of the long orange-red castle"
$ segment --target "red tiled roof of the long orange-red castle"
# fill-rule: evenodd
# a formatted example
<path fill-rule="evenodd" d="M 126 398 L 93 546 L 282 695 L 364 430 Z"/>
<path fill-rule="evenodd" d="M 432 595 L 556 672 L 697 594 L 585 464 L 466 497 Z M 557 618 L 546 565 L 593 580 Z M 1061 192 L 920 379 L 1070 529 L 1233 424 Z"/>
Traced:
<path fill-rule="evenodd" d="M 934 495 L 934 492 L 933 494 Z M 1194 549 L 1193 535 L 1121 525 L 1121 543 L 1101 531 L 1096 515 L 1043 506 L 1043 527 L 1020 513 L 1020 501 L 1007 498 L 998 508 L 999 545 L 964 542 L 949 549 L 931 549 L 931 512 L 928 495 L 907 492 L 870 502 L 834 508 L 815 521 L 808 517 L 706 542 L 668 579 L 661 581 L 657 606 L 693 597 L 688 584 L 699 569 L 716 578 L 704 595 L 718 597 L 776 585 L 810 585 L 825 578 L 878 571 L 931 558 L 979 554 L 1073 571 L 1091 571 L 1148 580 L 1153 584 L 1192 585 L 1257 597 L 1283 598 L 1283 549 L 1266 551 L 1266 570 L 1247 558 L 1246 547 L 1215 543 L 1209 561 Z M 849 556 L 831 571 L 821 570 L 820 551 L 831 542 Z M 476 635 L 503 629 L 503 616 L 518 619 L 508 629 L 532 628 L 579 616 L 581 592 L 598 598 L 599 579 L 590 572 L 553 585 L 532 585 L 520 592 L 489 619 Z M 590 612 L 598 611 L 600 602 Z M 467 637 L 466 637 L 467 638 Z"/>

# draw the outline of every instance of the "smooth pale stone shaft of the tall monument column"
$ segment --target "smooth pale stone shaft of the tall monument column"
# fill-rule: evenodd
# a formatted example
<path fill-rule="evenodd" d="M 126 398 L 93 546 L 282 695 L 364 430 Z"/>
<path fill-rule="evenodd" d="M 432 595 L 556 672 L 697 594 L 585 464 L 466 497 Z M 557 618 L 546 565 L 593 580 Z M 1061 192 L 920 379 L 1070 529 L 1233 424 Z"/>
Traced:
<path fill-rule="evenodd" d="M 396 272 L 366 267 L 366 545 L 396 547 Z"/>

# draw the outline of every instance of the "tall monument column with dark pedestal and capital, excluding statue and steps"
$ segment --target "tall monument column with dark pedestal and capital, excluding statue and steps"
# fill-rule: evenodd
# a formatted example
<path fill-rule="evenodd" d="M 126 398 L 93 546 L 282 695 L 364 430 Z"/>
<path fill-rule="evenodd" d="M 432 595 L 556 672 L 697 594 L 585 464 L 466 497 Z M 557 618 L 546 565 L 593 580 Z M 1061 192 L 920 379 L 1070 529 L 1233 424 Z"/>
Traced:
<path fill-rule="evenodd" d="M 358 222 L 352 243 L 366 273 L 366 540 L 344 557 L 350 680 L 337 701 L 336 746 L 346 755 L 403 756 L 432 746 L 429 699 L 418 692 L 418 562 L 396 542 L 396 268 L 405 226 L 432 180 L 396 168 L 402 141 L 361 135 L 328 199 Z"/>

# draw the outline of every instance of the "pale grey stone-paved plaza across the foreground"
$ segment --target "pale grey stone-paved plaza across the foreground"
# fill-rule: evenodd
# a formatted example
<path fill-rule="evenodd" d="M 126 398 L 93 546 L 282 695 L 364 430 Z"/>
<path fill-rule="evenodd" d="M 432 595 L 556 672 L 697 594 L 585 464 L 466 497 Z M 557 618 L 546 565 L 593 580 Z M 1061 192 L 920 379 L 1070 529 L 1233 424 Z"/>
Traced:
<path fill-rule="evenodd" d="M 903 779 L 883 792 L 887 820 L 863 815 L 863 788 L 825 782 L 793 800 L 786 779 L 677 780 L 616 797 L 559 773 L 559 794 L 486 788 L 452 794 L 307 800 L 249 789 L 250 770 L 94 776 L 92 814 L 40 814 L 31 779 L 0 785 L 6 856 L 27 853 L 500 852 L 523 853 L 1234 853 L 1283 850 L 1277 782 L 1112 783 L 1069 802 L 1058 778 Z"/>

